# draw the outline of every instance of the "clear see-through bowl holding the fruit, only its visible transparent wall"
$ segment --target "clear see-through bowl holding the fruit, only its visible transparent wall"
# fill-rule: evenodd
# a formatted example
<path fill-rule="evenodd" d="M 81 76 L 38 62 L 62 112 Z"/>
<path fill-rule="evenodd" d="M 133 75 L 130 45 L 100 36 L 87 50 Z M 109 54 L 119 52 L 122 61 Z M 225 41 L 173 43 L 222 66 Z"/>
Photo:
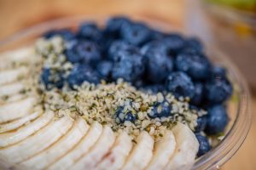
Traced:
<path fill-rule="evenodd" d="M 13 37 L 9 37 L 0 42 L 0 53 L 15 48 L 21 48 L 32 43 L 40 37 L 45 31 L 51 29 L 71 28 L 76 29 L 82 21 L 95 20 L 100 26 L 107 20 L 107 16 L 78 16 L 52 20 L 42 23 L 38 26 L 32 26 L 25 31 L 16 33 Z M 134 20 L 142 20 L 149 26 L 157 28 L 161 31 L 175 31 L 191 36 L 181 27 L 175 27 L 170 23 L 163 23 L 158 20 L 151 20 L 145 17 L 137 17 Z M 236 66 L 230 62 L 225 54 L 211 45 L 206 45 L 206 51 L 212 62 L 224 65 L 229 71 L 229 77 L 234 84 L 234 94 L 228 101 L 228 110 L 230 123 L 226 130 L 224 139 L 206 155 L 201 156 L 195 161 L 192 169 L 218 169 L 233 156 L 241 147 L 241 144 L 247 137 L 247 133 L 251 124 L 251 112 L 249 110 L 250 94 L 247 83 L 237 71 Z M 4 164 L 4 162 L 2 162 Z M 1 164 L 1 163 L 0 163 Z"/>

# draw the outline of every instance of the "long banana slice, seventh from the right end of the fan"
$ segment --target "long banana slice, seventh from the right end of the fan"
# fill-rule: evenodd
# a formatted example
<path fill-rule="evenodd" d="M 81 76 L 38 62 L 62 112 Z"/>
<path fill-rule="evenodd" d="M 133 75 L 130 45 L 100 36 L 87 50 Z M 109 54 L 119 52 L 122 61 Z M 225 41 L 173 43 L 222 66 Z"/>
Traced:
<path fill-rule="evenodd" d="M 79 120 L 74 123 L 72 129 L 59 141 L 37 156 L 33 156 L 29 160 L 21 162 L 21 165 L 31 169 L 44 169 L 48 167 L 49 164 L 55 162 L 59 157 L 64 156 L 71 150 L 73 146 L 83 138 L 88 129 L 89 125 L 82 118 L 79 118 Z"/>

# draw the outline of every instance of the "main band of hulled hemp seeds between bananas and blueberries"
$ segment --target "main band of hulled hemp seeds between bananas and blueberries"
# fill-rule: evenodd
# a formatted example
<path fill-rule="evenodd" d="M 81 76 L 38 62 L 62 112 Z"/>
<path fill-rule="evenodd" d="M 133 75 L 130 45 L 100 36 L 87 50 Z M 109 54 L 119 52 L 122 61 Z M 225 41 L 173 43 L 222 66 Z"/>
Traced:
<path fill-rule="evenodd" d="M 153 112 L 154 105 L 164 99 L 165 105 L 172 105 L 170 116 L 150 118 L 148 114 L 159 114 Z M 119 107 L 123 110 L 117 116 Z M 80 115 L 89 123 L 97 121 L 108 124 L 115 132 L 123 129 L 133 137 L 136 137 L 139 131 L 146 130 L 155 139 L 158 139 L 166 128 L 172 128 L 176 122 L 183 122 L 194 130 L 197 115 L 206 114 L 205 111 L 189 110 L 186 101 L 175 99 L 172 94 L 145 94 L 121 80 L 98 85 L 84 82 L 76 90 L 65 87 L 62 90 L 54 88 L 45 91 L 44 108 L 70 116 Z M 160 110 L 160 106 L 157 107 L 157 111 Z M 121 123 L 120 120 L 128 113 L 137 117 L 136 120 Z"/>

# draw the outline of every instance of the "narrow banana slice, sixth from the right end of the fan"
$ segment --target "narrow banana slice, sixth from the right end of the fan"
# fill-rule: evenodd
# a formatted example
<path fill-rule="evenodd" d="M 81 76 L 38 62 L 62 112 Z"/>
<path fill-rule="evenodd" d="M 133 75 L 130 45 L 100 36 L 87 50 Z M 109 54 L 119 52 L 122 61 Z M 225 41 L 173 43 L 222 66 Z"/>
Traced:
<path fill-rule="evenodd" d="M 98 122 L 94 122 L 89 132 L 85 137 L 77 144 L 73 150 L 70 150 L 66 156 L 61 157 L 59 161 L 56 161 L 48 169 L 71 169 L 73 164 L 84 156 L 88 150 L 96 143 L 102 134 L 102 125 Z"/>

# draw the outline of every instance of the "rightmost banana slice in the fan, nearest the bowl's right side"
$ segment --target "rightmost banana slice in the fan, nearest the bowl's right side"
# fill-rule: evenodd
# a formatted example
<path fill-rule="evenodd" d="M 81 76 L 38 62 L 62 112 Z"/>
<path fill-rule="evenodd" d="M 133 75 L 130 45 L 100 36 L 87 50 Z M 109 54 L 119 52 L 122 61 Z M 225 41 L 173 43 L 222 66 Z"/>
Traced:
<path fill-rule="evenodd" d="M 174 133 L 177 147 L 165 169 L 189 170 L 195 162 L 195 156 L 199 148 L 195 134 L 189 129 L 189 127 L 180 122 L 173 127 L 172 133 Z"/>

